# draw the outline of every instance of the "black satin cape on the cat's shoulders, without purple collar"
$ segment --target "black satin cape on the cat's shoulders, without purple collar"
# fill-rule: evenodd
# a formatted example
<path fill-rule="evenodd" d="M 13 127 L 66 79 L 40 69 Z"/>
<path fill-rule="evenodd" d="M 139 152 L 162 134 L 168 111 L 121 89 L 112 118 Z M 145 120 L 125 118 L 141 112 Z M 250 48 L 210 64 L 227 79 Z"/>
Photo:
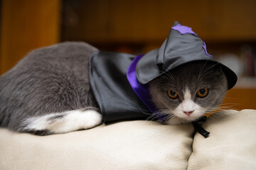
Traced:
<path fill-rule="evenodd" d="M 90 85 L 105 123 L 145 120 L 151 114 L 127 80 L 134 55 L 97 51 L 90 56 Z"/>

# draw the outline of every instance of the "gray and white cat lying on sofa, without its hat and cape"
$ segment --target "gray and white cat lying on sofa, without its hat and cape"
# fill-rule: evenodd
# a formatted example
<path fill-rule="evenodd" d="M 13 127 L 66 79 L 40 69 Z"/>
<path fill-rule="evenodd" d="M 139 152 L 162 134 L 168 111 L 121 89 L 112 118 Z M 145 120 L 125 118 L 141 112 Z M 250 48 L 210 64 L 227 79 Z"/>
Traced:
<path fill-rule="evenodd" d="M 37 135 L 93 128 L 102 123 L 89 82 L 84 42 L 63 42 L 34 50 L 0 77 L 0 127 Z M 177 67 L 149 84 L 167 124 L 187 123 L 223 101 L 227 80 L 216 64 Z"/>

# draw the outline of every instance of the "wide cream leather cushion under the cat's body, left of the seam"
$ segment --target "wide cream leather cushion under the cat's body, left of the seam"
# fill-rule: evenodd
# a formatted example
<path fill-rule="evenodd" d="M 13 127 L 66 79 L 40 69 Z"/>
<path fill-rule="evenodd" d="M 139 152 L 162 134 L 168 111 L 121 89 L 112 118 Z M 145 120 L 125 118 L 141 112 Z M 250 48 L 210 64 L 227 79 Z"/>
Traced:
<path fill-rule="evenodd" d="M 0 169 L 186 169 L 192 125 L 129 121 L 62 135 L 0 130 Z"/>

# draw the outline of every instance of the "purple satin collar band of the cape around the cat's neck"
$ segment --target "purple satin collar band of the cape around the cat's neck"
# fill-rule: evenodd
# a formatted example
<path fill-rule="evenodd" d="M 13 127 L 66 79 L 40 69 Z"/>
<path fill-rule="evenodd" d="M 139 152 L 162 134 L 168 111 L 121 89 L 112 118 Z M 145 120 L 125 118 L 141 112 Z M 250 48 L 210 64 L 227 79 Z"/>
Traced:
<path fill-rule="evenodd" d="M 136 65 L 137 62 L 143 57 L 144 55 L 138 55 L 134 58 L 132 63 L 129 65 L 127 69 L 127 79 L 129 84 L 132 86 L 132 89 L 135 94 L 139 97 L 139 99 L 145 104 L 151 113 L 155 114 L 159 120 L 164 122 L 166 120 L 166 115 L 158 115 L 157 109 L 152 103 L 151 96 L 149 94 L 149 84 L 141 84 L 139 83 L 137 76 L 136 76 Z"/>

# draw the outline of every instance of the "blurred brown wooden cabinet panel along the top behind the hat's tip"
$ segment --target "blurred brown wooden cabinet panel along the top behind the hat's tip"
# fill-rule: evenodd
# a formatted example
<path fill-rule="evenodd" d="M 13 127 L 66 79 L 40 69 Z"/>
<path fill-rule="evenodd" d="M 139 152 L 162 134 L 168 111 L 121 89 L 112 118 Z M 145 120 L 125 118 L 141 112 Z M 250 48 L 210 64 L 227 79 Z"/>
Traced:
<path fill-rule="evenodd" d="M 65 2 L 63 40 L 162 42 L 174 21 L 192 27 L 205 41 L 256 40 L 253 0 Z"/>

